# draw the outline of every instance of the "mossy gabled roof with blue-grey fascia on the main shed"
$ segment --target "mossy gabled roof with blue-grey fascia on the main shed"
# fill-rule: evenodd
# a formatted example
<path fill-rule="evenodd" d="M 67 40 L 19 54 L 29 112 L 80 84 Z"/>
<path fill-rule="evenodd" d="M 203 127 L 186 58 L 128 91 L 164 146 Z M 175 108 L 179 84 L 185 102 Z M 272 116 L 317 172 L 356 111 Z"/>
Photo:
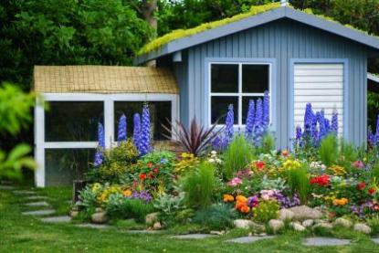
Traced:
<path fill-rule="evenodd" d="M 300 11 L 289 6 L 275 4 L 264 6 L 267 7 L 236 16 L 236 18 L 231 17 L 226 22 L 216 21 L 187 30 L 174 31 L 173 34 L 176 34 L 177 37 L 174 37 L 172 34 L 159 37 L 145 47 L 142 47 L 141 55 L 135 58 L 134 62 L 142 64 L 154 58 L 160 58 L 188 47 L 194 47 L 207 41 L 225 37 L 255 26 L 261 26 L 281 18 L 289 18 L 332 34 L 346 37 L 367 47 L 379 49 L 378 37 L 355 29 L 353 26 L 343 26 L 333 21 L 332 18 L 316 16 L 310 11 Z"/>

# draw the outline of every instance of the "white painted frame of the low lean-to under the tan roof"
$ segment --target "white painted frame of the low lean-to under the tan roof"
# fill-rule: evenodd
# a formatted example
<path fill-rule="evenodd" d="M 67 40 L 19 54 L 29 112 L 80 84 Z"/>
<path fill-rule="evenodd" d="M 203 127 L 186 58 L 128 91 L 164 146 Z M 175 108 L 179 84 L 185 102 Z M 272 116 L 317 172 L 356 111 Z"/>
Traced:
<path fill-rule="evenodd" d="M 115 101 L 171 101 L 171 121 L 179 120 L 178 94 L 150 94 L 150 93 L 43 93 L 37 99 L 35 107 L 35 159 L 38 168 L 35 172 L 37 187 L 45 187 L 45 151 L 46 149 L 95 149 L 98 142 L 46 142 L 45 141 L 45 109 L 44 101 L 100 101 L 104 106 L 104 138 L 105 147 L 111 148 L 116 144 L 114 132 L 114 102 Z M 173 136 L 174 138 L 174 136 Z"/>

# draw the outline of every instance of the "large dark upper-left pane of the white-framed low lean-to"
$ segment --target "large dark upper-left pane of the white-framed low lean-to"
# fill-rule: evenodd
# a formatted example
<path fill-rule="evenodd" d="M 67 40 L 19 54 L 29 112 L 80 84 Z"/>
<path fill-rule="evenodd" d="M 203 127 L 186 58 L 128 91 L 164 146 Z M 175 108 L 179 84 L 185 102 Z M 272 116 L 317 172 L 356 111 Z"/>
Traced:
<path fill-rule="evenodd" d="M 52 101 L 45 112 L 46 142 L 98 140 L 98 123 L 104 122 L 100 101 Z"/>

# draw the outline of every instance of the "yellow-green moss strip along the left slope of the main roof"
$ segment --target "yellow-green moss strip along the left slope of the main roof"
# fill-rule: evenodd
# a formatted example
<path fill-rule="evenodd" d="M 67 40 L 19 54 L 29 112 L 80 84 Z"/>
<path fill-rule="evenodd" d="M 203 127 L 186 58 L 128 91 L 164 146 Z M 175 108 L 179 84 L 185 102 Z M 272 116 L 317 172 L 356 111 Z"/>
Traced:
<path fill-rule="evenodd" d="M 280 3 L 271 3 L 268 5 L 253 5 L 251 6 L 250 10 L 247 13 L 242 13 L 242 14 L 227 17 L 221 20 L 204 23 L 200 26 L 195 26 L 194 28 L 174 30 L 171 33 L 163 35 L 162 37 L 157 37 L 150 43 L 146 44 L 138 52 L 138 55 L 149 53 L 176 39 L 179 39 L 182 37 L 189 37 L 189 36 L 204 32 L 206 30 L 216 28 L 218 26 L 225 26 L 229 23 L 236 22 L 238 20 L 247 18 L 249 16 L 255 16 L 260 13 L 264 13 L 264 12 L 267 12 L 269 10 L 276 9 L 279 7 L 280 7 Z"/>

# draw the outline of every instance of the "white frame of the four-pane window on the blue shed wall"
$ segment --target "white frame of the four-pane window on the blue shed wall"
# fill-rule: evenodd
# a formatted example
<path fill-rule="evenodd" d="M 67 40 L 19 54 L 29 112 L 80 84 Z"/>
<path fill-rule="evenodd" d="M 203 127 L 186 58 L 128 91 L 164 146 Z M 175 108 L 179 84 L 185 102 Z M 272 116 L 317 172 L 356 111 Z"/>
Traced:
<path fill-rule="evenodd" d="M 238 92 L 212 92 L 212 64 L 217 65 L 237 65 L 238 66 Z M 272 63 L 264 61 L 209 61 L 208 62 L 208 125 L 212 124 L 212 97 L 237 97 L 238 98 L 238 115 L 237 124 L 234 124 L 235 128 L 244 129 L 246 124 L 242 123 L 242 98 L 243 97 L 263 97 L 265 93 L 246 93 L 242 92 L 242 66 L 243 65 L 267 65 L 268 66 L 268 94 L 269 94 L 269 123 L 272 122 Z M 236 115 L 236 114 L 235 114 Z M 225 124 L 217 124 L 217 126 L 223 126 Z"/>

